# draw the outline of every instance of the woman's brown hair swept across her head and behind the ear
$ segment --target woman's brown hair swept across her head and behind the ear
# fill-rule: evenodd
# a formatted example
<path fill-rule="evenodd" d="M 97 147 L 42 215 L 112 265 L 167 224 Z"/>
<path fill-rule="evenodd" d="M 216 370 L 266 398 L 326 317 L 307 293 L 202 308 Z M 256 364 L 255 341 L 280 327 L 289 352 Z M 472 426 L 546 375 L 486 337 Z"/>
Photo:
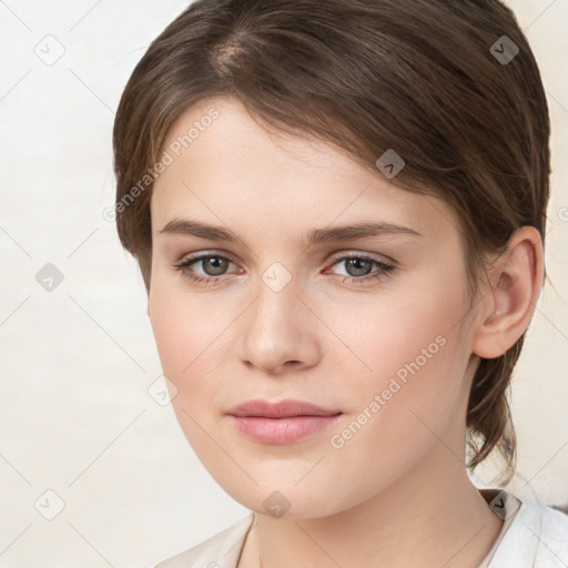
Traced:
<path fill-rule="evenodd" d="M 315 135 L 375 172 L 394 149 L 406 165 L 392 183 L 456 211 L 475 291 L 487 254 L 516 229 L 545 240 L 548 106 L 528 42 L 498 0 L 197 0 L 138 63 L 114 123 L 116 225 L 148 291 L 151 182 L 166 132 L 192 104 L 225 95 L 265 126 Z M 497 448 L 513 470 L 506 395 L 524 337 L 476 371 L 474 469 Z"/>

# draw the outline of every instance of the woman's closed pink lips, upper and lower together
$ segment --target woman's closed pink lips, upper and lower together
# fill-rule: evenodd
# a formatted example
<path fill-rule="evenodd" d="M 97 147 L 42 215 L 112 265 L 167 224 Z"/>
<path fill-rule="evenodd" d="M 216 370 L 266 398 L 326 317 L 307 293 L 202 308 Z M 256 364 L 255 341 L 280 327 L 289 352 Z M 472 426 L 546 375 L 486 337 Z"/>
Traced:
<path fill-rule="evenodd" d="M 325 428 L 342 413 L 302 400 L 248 400 L 226 414 L 241 433 L 256 442 L 290 444 Z"/>

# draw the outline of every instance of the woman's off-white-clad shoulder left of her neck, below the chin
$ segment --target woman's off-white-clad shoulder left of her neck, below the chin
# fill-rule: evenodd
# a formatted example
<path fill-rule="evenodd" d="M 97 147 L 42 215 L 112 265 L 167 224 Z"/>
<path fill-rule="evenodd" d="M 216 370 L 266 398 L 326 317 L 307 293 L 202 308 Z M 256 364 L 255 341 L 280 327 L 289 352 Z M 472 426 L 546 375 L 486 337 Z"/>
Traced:
<path fill-rule="evenodd" d="M 251 511 L 231 527 L 184 552 L 163 560 L 155 568 L 235 568 L 253 520 L 254 514 Z"/>

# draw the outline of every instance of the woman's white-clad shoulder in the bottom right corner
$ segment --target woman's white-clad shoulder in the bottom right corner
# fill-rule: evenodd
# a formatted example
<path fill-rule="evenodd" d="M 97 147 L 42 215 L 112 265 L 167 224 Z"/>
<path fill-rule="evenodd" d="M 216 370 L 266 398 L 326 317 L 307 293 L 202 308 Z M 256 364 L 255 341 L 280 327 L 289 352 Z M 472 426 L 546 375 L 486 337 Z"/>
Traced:
<path fill-rule="evenodd" d="M 521 503 L 489 567 L 532 566 L 568 566 L 568 515 L 545 505 Z"/>

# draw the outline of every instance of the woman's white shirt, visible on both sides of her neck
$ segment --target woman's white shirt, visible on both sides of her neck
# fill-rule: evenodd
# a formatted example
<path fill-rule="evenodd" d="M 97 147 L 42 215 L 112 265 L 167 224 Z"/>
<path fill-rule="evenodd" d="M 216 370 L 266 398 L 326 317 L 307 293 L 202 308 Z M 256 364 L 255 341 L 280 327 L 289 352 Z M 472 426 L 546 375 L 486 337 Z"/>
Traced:
<path fill-rule="evenodd" d="M 504 524 L 477 568 L 568 568 L 568 515 L 544 505 L 523 503 L 507 491 L 480 489 L 479 493 Z M 155 568 L 236 568 L 253 523 L 251 511 Z"/>

